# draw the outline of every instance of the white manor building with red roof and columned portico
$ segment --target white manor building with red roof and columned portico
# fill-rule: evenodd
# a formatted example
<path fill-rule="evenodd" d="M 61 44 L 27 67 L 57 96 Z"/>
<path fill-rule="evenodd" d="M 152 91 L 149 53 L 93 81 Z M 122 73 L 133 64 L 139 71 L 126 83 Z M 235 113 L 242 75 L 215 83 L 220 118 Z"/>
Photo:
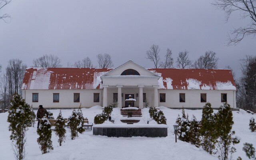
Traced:
<path fill-rule="evenodd" d="M 218 108 L 228 102 L 236 108 L 236 86 L 228 69 L 146 69 L 129 60 L 113 68 L 26 68 L 22 96 L 37 108 L 118 107 L 132 95 L 132 106 Z"/>

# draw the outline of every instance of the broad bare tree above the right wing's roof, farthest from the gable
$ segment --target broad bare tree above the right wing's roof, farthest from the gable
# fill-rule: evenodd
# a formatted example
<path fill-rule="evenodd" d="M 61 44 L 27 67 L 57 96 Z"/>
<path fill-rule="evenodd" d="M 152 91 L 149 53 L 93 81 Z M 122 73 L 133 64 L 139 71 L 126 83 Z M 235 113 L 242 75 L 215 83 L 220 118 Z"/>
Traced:
<path fill-rule="evenodd" d="M 218 68 L 218 60 L 216 58 L 216 53 L 213 51 L 206 51 L 203 56 L 200 56 L 197 60 L 195 60 L 192 65 L 193 68 L 204 68 L 204 69 L 216 69 Z"/>

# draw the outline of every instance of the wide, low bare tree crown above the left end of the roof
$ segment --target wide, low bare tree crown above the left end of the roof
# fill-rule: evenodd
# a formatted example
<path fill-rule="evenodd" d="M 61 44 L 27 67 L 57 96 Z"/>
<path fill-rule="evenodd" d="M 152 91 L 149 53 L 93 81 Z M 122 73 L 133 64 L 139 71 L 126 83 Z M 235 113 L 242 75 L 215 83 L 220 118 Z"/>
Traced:
<path fill-rule="evenodd" d="M 33 60 L 34 67 L 42 67 L 42 68 L 58 68 L 62 67 L 60 64 L 61 60 L 58 56 L 54 56 L 50 54 L 49 56 L 46 54 L 40 58 Z"/>

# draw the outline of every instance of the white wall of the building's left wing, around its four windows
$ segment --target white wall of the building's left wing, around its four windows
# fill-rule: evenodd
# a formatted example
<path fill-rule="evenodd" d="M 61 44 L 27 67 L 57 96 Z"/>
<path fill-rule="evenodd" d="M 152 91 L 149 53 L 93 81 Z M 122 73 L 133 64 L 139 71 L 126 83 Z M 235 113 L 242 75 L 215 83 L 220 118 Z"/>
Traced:
<path fill-rule="evenodd" d="M 32 102 L 32 93 L 38 93 L 38 102 Z M 53 93 L 60 94 L 60 101 L 53 102 Z M 74 93 L 80 93 L 80 102 L 74 102 Z M 100 93 L 100 102 L 93 102 L 94 93 Z M 82 103 L 82 108 L 92 106 L 102 106 L 102 90 L 23 90 L 23 98 L 26 103 L 37 108 L 43 105 L 44 108 L 78 108 Z"/>

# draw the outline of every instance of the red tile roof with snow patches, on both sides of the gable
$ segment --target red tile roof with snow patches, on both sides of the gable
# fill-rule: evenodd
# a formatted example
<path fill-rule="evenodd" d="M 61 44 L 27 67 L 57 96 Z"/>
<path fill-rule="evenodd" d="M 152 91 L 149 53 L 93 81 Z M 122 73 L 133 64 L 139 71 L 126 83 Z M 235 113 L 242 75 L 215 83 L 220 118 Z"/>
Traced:
<path fill-rule="evenodd" d="M 100 76 L 107 68 L 27 68 L 22 89 L 99 89 Z M 236 90 L 230 70 L 220 69 L 148 69 L 158 74 L 160 88 Z M 162 85 L 161 85 L 162 84 Z"/>

